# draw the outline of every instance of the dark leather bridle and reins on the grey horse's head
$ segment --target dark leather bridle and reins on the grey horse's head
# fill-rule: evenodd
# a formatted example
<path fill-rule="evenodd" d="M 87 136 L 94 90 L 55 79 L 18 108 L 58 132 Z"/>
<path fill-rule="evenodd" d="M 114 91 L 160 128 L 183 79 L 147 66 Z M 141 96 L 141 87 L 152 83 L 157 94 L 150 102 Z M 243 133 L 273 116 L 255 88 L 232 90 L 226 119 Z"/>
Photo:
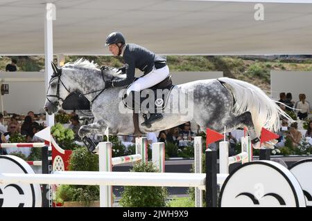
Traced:
<path fill-rule="evenodd" d="M 65 86 L 65 84 L 63 83 L 62 79 L 61 79 L 61 76 L 62 76 L 62 68 L 58 68 L 53 62 L 51 62 L 52 64 L 52 68 L 53 68 L 53 75 L 51 76 L 51 80 L 49 81 L 49 88 L 51 87 L 51 82 L 54 80 L 54 79 L 58 79 L 58 85 L 57 85 L 57 88 L 56 88 L 56 95 L 48 95 L 48 91 L 49 91 L 49 88 L 48 88 L 48 91 L 46 92 L 46 99 L 53 105 L 55 106 L 56 108 L 58 108 L 58 106 L 60 106 L 60 102 L 59 101 L 62 101 L 64 102 L 64 100 L 71 94 L 71 93 L 74 93 L 76 92 L 75 91 L 70 91 L 67 86 Z M 104 79 L 104 75 L 103 75 L 103 70 L 102 70 L 102 78 L 103 78 L 103 81 L 104 81 L 104 85 L 105 85 L 105 79 Z M 67 92 L 69 93 L 69 95 L 67 95 L 67 97 L 65 97 L 65 99 L 62 99 L 62 97 L 60 97 L 60 84 L 62 84 L 62 86 L 65 88 L 65 90 L 67 90 Z M 96 98 L 98 98 L 99 95 L 101 95 L 101 93 L 103 93 L 103 91 L 105 90 L 105 88 L 103 89 L 100 89 L 100 90 L 94 90 L 92 92 L 89 92 L 89 93 L 85 93 L 85 94 L 82 94 L 80 93 L 80 96 L 85 96 L 85 95 L 89 95 L 89 94 L 92 94 L 92 93 L 97 93 L 99 92 L 93 99 L 92 101 L 90 102 L 90 106 L 92 105 L 92 103 L 94 102 L 94 100 Z M 58 100 L 56 102 L 51 102 L 51 100 L 49 99 L 49 97 L 56 97 Z"/>

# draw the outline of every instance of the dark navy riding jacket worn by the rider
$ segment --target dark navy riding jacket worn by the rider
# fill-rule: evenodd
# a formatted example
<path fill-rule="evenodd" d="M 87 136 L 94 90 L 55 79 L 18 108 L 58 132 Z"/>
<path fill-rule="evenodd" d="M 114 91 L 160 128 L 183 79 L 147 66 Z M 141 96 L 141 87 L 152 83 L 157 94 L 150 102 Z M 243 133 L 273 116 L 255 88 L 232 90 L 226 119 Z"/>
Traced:
<path fill-rule="evenodd" d="M 114 87 L 126 86 L 135 79 L 135 68 L 141 70 L 144 75 L 150 73 L 153 68 L 163 68 L 166 66 L 166 57 L 155 55 L 154 52 L 147 50 L 137 44 L 126 44 L 123 51 L 124 64 L 128 64 L 125 71 L 127 77 L 125 79 L 117 79 L 112 81 Z"/>

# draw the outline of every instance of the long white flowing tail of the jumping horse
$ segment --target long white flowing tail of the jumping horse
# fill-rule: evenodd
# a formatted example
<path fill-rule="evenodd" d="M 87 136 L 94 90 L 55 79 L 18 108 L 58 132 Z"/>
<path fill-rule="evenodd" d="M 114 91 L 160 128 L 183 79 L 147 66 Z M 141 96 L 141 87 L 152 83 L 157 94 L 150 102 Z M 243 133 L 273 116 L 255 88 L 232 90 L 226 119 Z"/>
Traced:
<path fill-rule="evenodd" d="M 257 86 L 227 77 L 220 77 L 218 80 L 225 82 L 225 87 L 232 91 L 234 112 L 241 114 L 249 111 L 251 113 L 257 135 L 260 135 L 262 127 L 277 131 L 280 127 L 279 117 L 281 116 L 293 122 L 293 119 Z"/>

